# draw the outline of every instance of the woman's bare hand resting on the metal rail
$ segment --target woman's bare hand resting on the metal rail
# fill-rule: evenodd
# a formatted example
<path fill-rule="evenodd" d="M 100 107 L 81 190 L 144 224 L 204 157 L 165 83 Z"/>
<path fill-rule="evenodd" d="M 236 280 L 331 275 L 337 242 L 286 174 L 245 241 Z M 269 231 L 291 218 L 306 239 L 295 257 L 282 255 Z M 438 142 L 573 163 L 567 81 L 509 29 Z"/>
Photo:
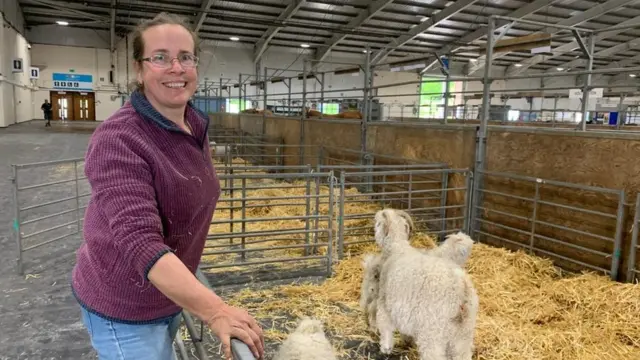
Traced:
<path fill-rule="evenodd" d="M 236 338 L 247 344 L 256 359 L 263 359 L 264 335 L 262 329 L 245 310 L 224 304 L 207 320 L 207 325 L 220 339 L 225 359 L 232 360 L 231 338 Z"/>

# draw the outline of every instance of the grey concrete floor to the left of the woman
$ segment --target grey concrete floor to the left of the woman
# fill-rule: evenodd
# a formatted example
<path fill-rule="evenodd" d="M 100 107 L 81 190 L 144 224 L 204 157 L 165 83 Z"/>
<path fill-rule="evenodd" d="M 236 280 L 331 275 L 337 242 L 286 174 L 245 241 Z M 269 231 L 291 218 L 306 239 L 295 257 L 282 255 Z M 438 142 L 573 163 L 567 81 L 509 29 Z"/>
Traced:
<path fill-rule="evenodd" d="M 13 185 L 9 180 L 11 164 L 82 158 L 96 125 L 54 122 L 45 128 L 44 121 L 32 121 L 0 129 L 0 359 L 96 358 L 69 288 L 80 237 L 74 235 L 25 254 L 24 275 L 18 275 Z M 46 181 L 45 177 L 23 178 L 35 184 Z M 64 186 L 75 189 L 73 184 Z M 51 200 L 43 199 L 47 195 L 44 190 L 40 194 L 36 202 Z"/>

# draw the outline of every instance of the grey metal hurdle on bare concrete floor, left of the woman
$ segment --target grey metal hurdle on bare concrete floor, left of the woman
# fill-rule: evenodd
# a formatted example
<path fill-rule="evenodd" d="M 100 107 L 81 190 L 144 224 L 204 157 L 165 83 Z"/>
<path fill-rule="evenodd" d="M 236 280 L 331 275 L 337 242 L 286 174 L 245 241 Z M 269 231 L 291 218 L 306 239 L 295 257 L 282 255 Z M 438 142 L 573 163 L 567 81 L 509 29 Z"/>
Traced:
<path fill-rule="evenodd" d="M 91 195 L 84 159 L 12 165 L 17 269 L 24 271 L 24 253 L 33 263 L 52 257 L 45 245 L 82 231 L 84 209 Z"/>

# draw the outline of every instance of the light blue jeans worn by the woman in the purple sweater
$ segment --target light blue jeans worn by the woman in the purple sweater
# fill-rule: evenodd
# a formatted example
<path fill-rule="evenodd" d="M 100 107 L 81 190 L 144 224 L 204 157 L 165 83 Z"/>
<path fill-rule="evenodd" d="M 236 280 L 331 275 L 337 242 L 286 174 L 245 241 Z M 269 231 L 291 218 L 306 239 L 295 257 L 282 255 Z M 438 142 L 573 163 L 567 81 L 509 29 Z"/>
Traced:
<path fill-rule="evenodd" d="M 100 360 L 176 360 L 173 339 L 182 316 L 157 324 L 130 325 L 82 308 L 82 321 Z"/>

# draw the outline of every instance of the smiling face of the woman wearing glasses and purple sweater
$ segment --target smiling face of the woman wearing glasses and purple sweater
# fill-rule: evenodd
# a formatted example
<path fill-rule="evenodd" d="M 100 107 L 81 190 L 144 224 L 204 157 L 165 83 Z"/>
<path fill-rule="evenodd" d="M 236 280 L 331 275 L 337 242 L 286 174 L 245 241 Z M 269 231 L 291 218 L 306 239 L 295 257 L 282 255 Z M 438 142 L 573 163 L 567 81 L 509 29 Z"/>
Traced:
<path fill-rule="evenodd" d="M 198 72 L 195 66 L 184 67 L 180 59 L 185 54 L 193 54 L 193 37 L 180 25 L 159 25 L 142 34 L 143 58 L 162 58 L 171 61 L 167 67 L 150 61 L 142 61 L 138 68 L 138 81 L 144 84 L 144 93 L 149 101 L 160 108 L 180 108 L 195 93 Z M 159 109 L 161 110 L 161 109 Z"/>

